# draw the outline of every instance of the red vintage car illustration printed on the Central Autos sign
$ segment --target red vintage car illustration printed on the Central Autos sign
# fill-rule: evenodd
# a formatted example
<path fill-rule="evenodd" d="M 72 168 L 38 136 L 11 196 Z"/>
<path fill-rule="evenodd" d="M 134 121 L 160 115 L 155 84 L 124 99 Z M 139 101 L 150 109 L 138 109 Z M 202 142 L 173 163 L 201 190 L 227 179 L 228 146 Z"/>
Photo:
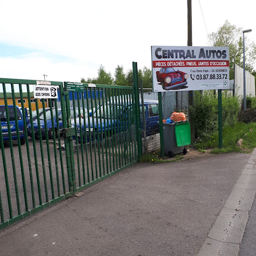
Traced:
<path fill-rule="evenodd" d="M 188 74 L 174 68 L 161 68 L 157 71 L 157 81 L 162 85 L 164 90 L 179 90 L 188 88 L 186 79 Z"/>

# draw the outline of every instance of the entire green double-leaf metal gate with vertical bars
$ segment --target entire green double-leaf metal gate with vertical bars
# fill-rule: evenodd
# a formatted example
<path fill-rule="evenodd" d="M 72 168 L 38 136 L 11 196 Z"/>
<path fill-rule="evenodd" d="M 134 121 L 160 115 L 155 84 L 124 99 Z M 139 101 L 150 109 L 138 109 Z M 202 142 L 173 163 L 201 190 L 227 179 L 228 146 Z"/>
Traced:
<path fill-rule="evenodd" d="M 51 81 L 59 99 L 40 102 L 31 93 L 35 84 L 0 78 L 0 229 L 137 162 L 132 87 L 83 84 L 70 92 L 67 82 Z M 36 119 L 27 122 L 33 104 Z"/>

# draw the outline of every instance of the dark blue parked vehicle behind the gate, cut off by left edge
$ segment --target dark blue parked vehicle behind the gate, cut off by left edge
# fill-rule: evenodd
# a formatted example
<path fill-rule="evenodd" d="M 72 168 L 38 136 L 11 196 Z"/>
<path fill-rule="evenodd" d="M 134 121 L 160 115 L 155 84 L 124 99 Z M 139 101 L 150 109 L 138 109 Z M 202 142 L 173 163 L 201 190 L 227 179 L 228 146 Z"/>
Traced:
<path fill-rule="evenodd" d="M 16 122 L 15 122 L 15 111 L 16 111 L 17 119 L 18 119 L 21 145 L 24 145 L 25 144 L 25 133 L 24 133 L 24 120 L 23 119 L 26 118 L 26 123 L 28 123 L 28 116 L 23 116 L 22 111 L 19 106 L 8 105 L 8 113 L 9 113 L 12 140 L 18 139 L 17 131 L 16 131 Z M 5 105 L 0 105 L 0 119 L 1 119 L 3 140 L 9 141 L 8 123 L 7 123 L 7 115 L 6 115 Z"/>

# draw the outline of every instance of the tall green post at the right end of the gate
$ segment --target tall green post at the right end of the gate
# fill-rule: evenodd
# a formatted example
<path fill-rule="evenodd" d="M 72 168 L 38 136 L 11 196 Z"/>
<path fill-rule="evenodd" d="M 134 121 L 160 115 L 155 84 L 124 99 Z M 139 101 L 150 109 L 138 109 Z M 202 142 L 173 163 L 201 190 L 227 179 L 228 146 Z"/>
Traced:
<path fill-rule="evenodd" d="M 134 77 L 134 96 L 135 96 L 135 120 L 136 120 L 136 137 L 138 146 L 138 160 L 142 157 L 142 131 L 141 131 L 141 115 L 140 115 L 140 100 L 138 86 L 138 68 L 137 62 L 133 62 L 133 77 Z"/>

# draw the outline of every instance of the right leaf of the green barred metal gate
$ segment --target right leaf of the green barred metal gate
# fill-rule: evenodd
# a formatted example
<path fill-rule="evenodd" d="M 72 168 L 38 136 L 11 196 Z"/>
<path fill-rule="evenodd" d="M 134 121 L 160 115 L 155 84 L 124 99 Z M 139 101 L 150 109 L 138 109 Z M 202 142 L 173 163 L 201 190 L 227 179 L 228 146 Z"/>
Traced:
<path fill-rule="evenodd" d="M 70 147 L 74 192 L 137 161 L 133 88 L 98 84 L 83 86 L 84 90 L 72 92 L 72 100 L 69 100 L 67 83 L 64 83 L 67 109 L 71 105 L 79 112 L 68 123 L 68 127 L 74 129 L 74 143 Z M 90 113 L 89 109 L 92 109 Z M 71 142 L 71 138 L 69 140 Z"/>

